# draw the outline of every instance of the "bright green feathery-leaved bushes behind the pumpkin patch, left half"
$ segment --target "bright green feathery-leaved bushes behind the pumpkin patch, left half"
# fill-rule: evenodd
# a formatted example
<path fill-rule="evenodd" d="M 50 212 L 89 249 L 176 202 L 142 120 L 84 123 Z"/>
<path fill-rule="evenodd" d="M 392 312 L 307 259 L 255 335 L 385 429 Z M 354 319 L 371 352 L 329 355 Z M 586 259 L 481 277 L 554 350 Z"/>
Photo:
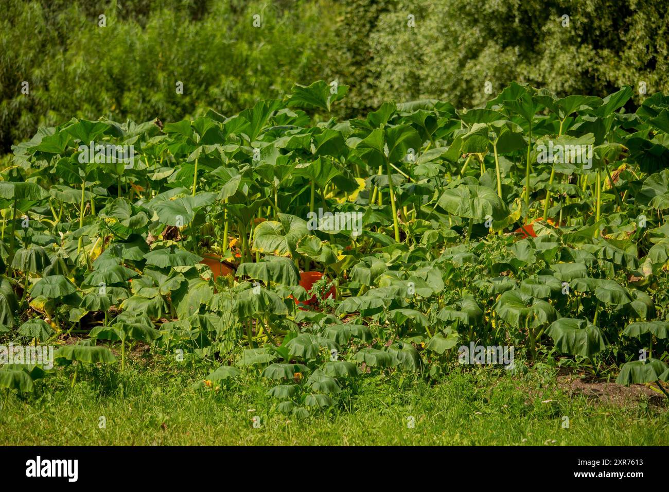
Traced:
<path fill-rule="evenodd" d="M 0 146 L 79 116 L 233 114 L 322 76 L 318 1 L 10 0 L 0 5 Z M 98 16 L 106 15 L 106 27 Z M 261 27 L 254 27 L 253 15 Z M 28 82 L 29 94 L 22 83 Z M 183 82 L 183 94 L 177 94 Z"/>

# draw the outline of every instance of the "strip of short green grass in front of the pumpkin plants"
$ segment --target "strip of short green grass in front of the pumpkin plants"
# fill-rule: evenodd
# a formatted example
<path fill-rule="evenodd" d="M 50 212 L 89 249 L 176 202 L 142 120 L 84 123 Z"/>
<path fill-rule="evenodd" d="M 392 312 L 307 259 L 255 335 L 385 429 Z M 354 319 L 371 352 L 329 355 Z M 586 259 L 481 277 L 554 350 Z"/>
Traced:
<path fill-rule="evenodd" d="M 140 359 L 121 376 L 82 372 L 73 390 L 62 374 L 26 399 L 0 393 L 0 444 L 669 444 L 666 406 L 570 396 L 550 368 L 511 376 L 456 367 L 433 386 L 414 376 L 366 378 L 355 395 L 345 393 L 343 407 L 306 420 L 273 409 L 276 400 L 265 396 L 270 385 L 252 374 L 218 392 L 191 389 L 208 370 L 193 359 L 155 359 L 151 367 Z M 106 428 L 98 425 L 101 416 Z"/>

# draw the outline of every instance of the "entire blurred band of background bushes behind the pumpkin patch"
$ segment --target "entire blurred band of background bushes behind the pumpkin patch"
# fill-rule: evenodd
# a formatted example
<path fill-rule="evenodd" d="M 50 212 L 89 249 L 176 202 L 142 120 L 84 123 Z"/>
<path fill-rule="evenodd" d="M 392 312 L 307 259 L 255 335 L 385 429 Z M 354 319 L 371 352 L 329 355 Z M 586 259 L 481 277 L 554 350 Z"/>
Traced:
<path fill-rule="evenodd" d="M 318 78 L 351 86 L 345 118 L 387 100 L 471 107 L 512 81 L 630 85 L 632 110 L 669 92 L 668 19 L 663 0 L 3 1 L 0 153 L 72 116 L 229 115 Z"/>

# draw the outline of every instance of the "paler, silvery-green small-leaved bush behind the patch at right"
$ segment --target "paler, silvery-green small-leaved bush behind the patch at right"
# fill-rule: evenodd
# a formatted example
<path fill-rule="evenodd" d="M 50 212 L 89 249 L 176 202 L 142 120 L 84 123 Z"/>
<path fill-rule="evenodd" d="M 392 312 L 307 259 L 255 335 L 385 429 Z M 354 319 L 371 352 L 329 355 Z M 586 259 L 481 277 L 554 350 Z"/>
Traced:
<path fill-rule="evenodd" d="M 669 91 L 669 17 L 662 0 L 347 0 L 334 76 L 349 114 L 386 100 L 478 105 L 512 81 L 558 95 L 646 84 Z M 409 27 L 413 15 L 415 27 Z M 563 27 L 563 15 L 569 25 Z M 349 60 L 353 65 L 349 65 Z M 486 82 L 490 82 L 486 92 Z"/>

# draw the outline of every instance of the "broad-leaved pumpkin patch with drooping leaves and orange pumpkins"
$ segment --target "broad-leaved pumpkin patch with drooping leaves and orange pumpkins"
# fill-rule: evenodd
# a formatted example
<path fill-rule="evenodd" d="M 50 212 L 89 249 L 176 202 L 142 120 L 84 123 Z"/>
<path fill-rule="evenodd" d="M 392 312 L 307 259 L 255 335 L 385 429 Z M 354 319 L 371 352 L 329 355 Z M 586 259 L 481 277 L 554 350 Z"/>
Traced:
<path fill-rule="evenodd" d="M 196 353 L 220 365 L 202 386 L 258 370 L 298 416 L 360 377 L 436 378 L 470 343 L 514 346 L 514 371 L 624 364 L 619 382 L 662 387 L 668 96 L 628 113 L 628 86 L 557 98 L 514 83 L 471 110 L 304 112 L 347 91 L 40 129 L 0 181 L 4 336 L 83 337 L 56 351 L 72 384 L 82 363 L 115 363 L 106 346 L 119 370 L 137 342 Z M 23 390 L 44 375 L 0 373 Z"/>

